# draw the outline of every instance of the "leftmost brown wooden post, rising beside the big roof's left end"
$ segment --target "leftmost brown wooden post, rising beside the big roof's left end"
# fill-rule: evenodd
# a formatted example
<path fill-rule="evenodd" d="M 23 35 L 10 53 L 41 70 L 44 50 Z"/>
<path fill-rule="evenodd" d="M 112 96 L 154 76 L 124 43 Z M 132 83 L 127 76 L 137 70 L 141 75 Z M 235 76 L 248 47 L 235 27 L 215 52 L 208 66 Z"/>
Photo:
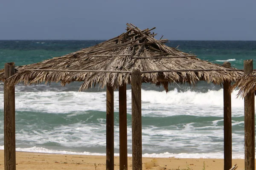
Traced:
<path fill-rule="evenodd" d="M 5 79 L 15 74 L 14 62 L 4 65 Z M 16 170 L 15 156 L 15 86 L 4 83 L 4 168 Z"/>

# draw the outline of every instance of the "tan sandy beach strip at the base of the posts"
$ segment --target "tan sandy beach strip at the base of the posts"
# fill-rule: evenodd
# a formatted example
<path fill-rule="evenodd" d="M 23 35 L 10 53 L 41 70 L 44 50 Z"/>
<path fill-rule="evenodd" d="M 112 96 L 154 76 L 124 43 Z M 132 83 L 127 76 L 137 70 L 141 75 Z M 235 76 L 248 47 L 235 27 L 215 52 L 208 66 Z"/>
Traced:
<path fill-rule="evenodd" d="M 131 157 L 128 158 L 128 170 L 131 170 Z M 178 159 L 143 158 L 143 170 L 205 170 L 223 169 L 223 159 Z M 237 170 L 244 169 L 243 159 L 233 159 Z M 95 167 L 96 166 L 96 167 Z M 105 170 L 105 156 L 60 155 L 47 153 L 16 152 L 17 170 Z M 0 150 L 0 169 L 4 169 L 3 150 Z M 119 170 L 119 157 L 115 156 L 115 170 Z"/>

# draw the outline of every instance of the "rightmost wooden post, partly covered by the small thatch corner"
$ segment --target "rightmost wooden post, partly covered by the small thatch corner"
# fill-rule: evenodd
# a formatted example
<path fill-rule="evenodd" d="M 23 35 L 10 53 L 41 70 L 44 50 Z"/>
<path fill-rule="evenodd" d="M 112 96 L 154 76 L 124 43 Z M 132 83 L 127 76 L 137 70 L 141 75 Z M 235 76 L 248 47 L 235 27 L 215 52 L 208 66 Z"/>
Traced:
<path fill-rule="evenodd" d="M 244 75 L 253 71 L 253 60 L 244 60 Z M 244 97 L 244 170 L 255 170 L 254 92 Z"/>

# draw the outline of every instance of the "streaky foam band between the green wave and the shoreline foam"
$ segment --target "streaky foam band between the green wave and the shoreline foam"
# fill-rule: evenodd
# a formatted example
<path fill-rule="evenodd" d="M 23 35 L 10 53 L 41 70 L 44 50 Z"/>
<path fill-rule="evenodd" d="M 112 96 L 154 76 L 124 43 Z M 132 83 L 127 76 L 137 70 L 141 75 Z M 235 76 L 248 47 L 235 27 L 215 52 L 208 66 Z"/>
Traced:
<path fill-rule="evenodd" d="M 165 127 L 143 125 L 143 152 L 173 152 L 173 156 L 179 153 L 211 153 L 213 151 L 218 152 L 223 150 L 223 126 L 209 123 L 208 126 L 197 127 L 198 124 L 187 123 L 180 124 L 180 127 L 177 128 L 177 125 Z M 58 148 L 61 148 L 61 150 L 81 150 L 81 148 L 84 150 L 90 148 L 102 148 L 101 150 L 105 150 L 105 124 L 76 123 L 70 125 L 58 125 L 53 129 L 48 130 L 44 129 L 42 125 L 40 125 L 40 129 L 37 129 L 37 127 L 38 126 L 36 125 L 32 125 L 31 127 L 24 127 L 22 130 L 18 130 L 16 133 L 16 146 L 25 144 L 28 146 L 42 147 L 54 144 L 53 146 L 57 146 Z M 118 150 L 118 126 L 114 126 L 114 135 L 114 148 Z M 127 135 L 128 150 L 131 150 L 131 126 L 128 126 Z M 242 153 L 244 150 L 243 135 L 233 133 L 233 138 L 234 150 Z M 70 146 L 72 146 L 72 148 L 70 148 Z M 49 152 L 45 150 L 43 151 L 47 153 Z M 35 150 L 34 152 L 38 151 Z M 59 152 L 54 151 L 53 153 Z"/>

